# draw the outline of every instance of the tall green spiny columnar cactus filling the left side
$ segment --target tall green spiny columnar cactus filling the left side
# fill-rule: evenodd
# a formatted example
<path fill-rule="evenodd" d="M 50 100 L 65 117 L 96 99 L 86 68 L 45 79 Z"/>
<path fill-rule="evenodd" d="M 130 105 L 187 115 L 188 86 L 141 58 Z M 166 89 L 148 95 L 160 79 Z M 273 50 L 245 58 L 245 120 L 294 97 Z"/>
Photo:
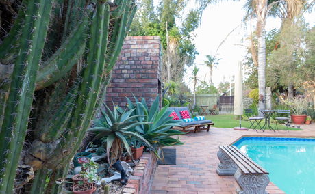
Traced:
<path fill-rule="evenodd" d="M 0 44 L 0 70 L 5 70 L 0 193 L 14 193 L 18 164 L 36 171 L 33 186 L 24 190 L 57 191 L 54 179 L 79 148 L 99 107 L 135 10 L 128 0 L 22 1 Z"/>

